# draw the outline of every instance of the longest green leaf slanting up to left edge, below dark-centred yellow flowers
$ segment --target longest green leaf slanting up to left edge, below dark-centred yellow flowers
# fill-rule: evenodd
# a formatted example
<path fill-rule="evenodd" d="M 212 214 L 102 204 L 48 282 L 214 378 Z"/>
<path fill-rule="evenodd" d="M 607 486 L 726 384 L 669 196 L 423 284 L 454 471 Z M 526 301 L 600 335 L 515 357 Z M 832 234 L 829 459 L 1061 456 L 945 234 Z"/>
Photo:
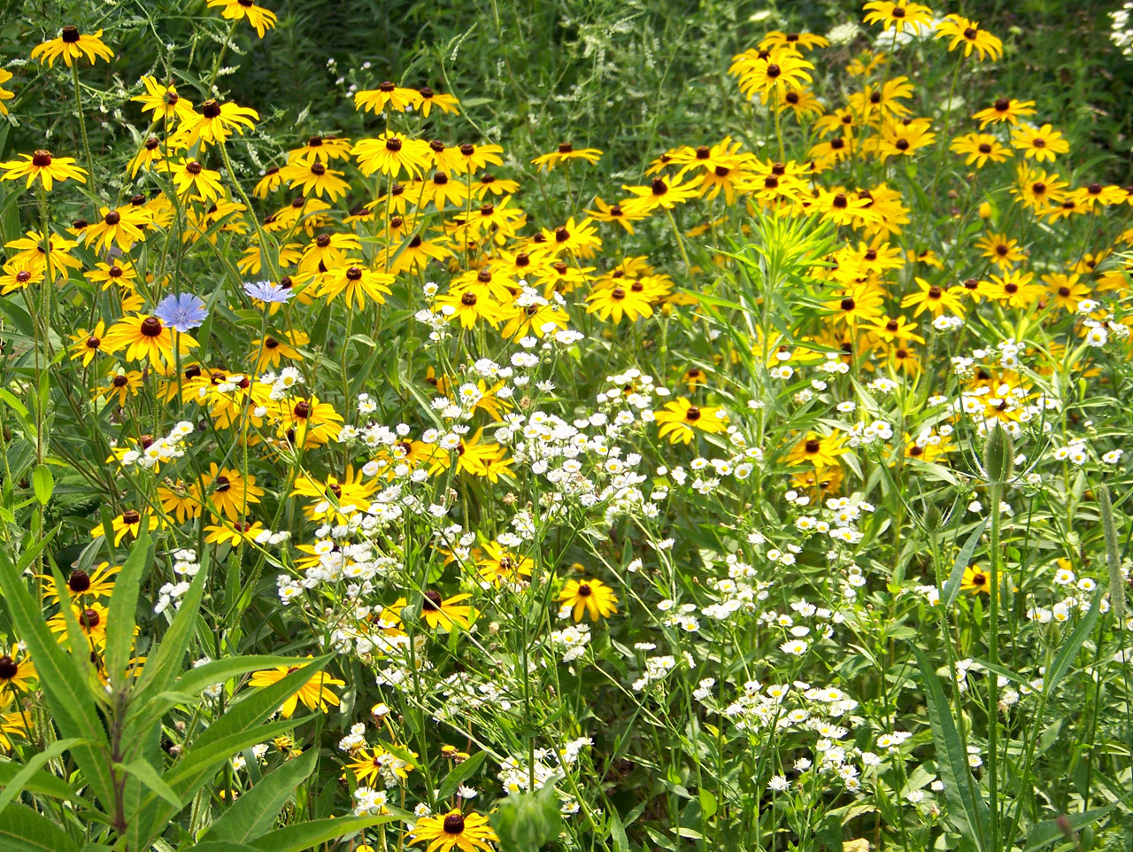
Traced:
<path fill-rule="evenodd" d="M 42 548 L 49 538 L 37 543 Z M 24 555 L 27 559 L 27 554 Z M 24 560 L 20 560 L 22 562 Z M 70 749 L 75 762 L 83 770 L 95 798 L 113 801 L 113 777 L 105 758 L 109 742 L 105 729 L 94 708 L 94 700 L 83 681 L 77 681 L 76 667 L 70 655 L 48 629 L 43 611 L 27 590 L 27 585 L 8 554 L 0 549 L 0 591 L 3 593 L 8 613 L 19 638 L 26 644 L 40 675 L 40 685 L 46 696 L 56 725 L 63 739 L 78 740 Z M 65 607 L 69 614 L 69 607 Z M 74 616 L 71 616 L 74 619 Z"/>

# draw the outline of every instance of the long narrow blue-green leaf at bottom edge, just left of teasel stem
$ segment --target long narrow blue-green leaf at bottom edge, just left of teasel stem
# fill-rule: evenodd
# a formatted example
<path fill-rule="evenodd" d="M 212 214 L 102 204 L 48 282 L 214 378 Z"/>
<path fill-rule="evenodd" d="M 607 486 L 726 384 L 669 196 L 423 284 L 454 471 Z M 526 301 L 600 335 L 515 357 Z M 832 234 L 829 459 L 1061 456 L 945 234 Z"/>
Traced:
<path fill-rule="evenodd" d="M 909 642 L 920 666 L 921 685 L 928 702 L 929 726 L 936 744 L 936 764 L 948 800 L 948 819 L 977 849 L 985 850 L 983 826 L 990 821 L 987 802 L 980 794 L 968 768 L 968 752 L 960 741 L 948 699 L 940 687 L 936 670 L 917 645 Z"/>

